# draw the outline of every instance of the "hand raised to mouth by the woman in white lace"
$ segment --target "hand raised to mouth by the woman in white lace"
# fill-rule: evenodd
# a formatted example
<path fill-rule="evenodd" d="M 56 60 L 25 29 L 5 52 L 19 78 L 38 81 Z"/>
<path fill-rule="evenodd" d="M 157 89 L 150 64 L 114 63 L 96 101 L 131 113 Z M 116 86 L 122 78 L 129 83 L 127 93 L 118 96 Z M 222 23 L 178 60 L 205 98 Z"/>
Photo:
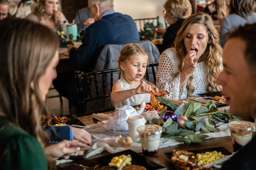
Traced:
<path fill-rule="evenodd" d="M 196 70 L 197 63 L 193 62 L 195 57 L 196 57 L 196 51 L 192 50 L 188 52 L 188 54 L 184 58 L 184 69 L 182 72 L 187 78 L 189 78 Z"/>

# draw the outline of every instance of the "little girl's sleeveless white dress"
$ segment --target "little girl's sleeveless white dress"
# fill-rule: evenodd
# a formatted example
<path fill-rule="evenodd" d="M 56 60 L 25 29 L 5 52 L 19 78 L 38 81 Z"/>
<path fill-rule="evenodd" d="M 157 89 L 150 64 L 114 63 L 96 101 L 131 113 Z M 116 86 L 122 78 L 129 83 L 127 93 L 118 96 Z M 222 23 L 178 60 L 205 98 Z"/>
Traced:
<path fill-rule="evenodd" d="M 143 81 L 143 80 L 142 80 Z M 135 87 L 132 87 L 127 81 L 124 80 L 124 78 L 120 78 L 117 82 L 119 82 L 122 86 L 122 90 L 128 90 L 128 89 L 136 89 Z M 143 81 L 143 83 L 147 83 L 146 81 Z M 123 107 L 124 105 L 140 105 L 141 102 L 145 101 L 146 103 L 150 103 L 151 94 L 145 93 L 145 94 L 136 94 L 132 97 L 129 97 L 128 99 L 115 103 L 115 108 Z"/>

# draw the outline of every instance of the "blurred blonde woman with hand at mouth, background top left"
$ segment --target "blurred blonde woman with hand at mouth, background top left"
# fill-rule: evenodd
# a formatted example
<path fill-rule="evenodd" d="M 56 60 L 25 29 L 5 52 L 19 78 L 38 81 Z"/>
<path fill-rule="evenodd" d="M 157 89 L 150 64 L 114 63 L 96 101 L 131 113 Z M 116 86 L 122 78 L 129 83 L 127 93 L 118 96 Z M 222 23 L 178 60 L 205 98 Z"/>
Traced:
<path fill-rule="evenodd" d="M 34 12 L 26 18 L 48 26 L 53 31 L 63 31 L 63 28 L 68 24 L 68 20 L 60 11 L 59 0 L 39 0 Z"/>

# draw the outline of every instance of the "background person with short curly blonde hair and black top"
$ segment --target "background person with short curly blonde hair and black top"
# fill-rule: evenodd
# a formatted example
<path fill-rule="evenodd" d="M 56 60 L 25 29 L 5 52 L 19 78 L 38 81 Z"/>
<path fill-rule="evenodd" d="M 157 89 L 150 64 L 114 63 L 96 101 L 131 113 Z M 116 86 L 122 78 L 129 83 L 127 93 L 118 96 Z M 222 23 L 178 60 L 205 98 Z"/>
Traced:
<path fill-rule="evenodd" d="M 192 14 L 192 7 L 189 0 L 166 0 L 164 7 L 166 9 L 164 11 L 166 20 L 170 26 L 167 30 L 161 27 L 155 30 L 157 35 L 163 36 L 160 53 L 173 46 L 173 41 L 176 38 L 178 30 L 180 30 L 185 19 Z"/>

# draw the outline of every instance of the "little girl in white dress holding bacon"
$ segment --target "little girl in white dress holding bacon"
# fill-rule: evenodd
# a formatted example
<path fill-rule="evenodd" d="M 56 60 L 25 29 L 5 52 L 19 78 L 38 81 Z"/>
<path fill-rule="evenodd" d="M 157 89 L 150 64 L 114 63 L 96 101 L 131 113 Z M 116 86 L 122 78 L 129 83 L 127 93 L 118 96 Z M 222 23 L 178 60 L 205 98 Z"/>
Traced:
<path fill-rule="evenodd" d="M 151 85 L 143 79 L 146 73 L 148 54 L 139 44 L 127 44 L 120 51 L 118 68 L 124 73 L 113 85 L 111 100 L 118 109 L 124 105 L 139 105 L 145 101 L 150 103 Z"/>

